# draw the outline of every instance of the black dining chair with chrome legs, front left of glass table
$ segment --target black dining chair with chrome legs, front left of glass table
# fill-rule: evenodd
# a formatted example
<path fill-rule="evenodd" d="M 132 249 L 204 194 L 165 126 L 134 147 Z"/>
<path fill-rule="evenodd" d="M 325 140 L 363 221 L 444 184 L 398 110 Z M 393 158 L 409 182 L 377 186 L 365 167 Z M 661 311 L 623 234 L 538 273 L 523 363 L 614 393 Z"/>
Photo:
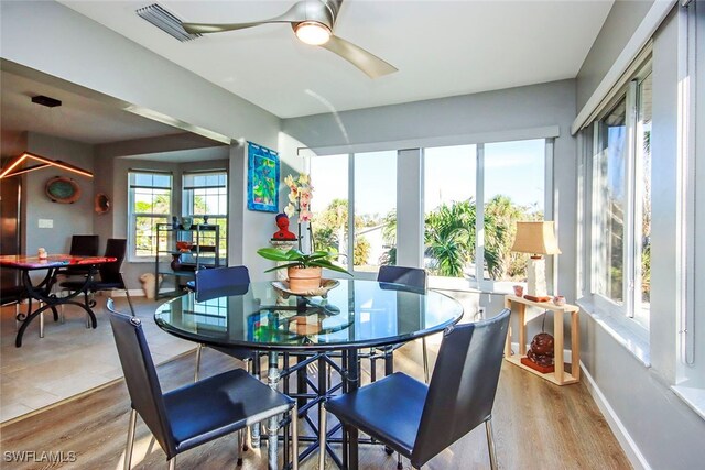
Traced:
<path fill-rule="evenodd" d="M 139 318 L 115 309 L 112 299 L 110 325 L 131 400 L 124 469 L 132 460 L 138 414 L 160 444 L 170 470 L 176 467 L 176 456 L 185 450 L 219 437 L 238 433 L 251 423 L 289 413 L 292 426 L 292 446 L 297 449 L 296 402 L 249 375 L 235 369 L 199 382 L 162 393 L 154 363 L 150 354 Z M 241 441 L 241 440 L 240 440 Z M 242 463 L 238 444 L 238 464 Z M 296 453 L 292 468 L 299 468 Z"/>

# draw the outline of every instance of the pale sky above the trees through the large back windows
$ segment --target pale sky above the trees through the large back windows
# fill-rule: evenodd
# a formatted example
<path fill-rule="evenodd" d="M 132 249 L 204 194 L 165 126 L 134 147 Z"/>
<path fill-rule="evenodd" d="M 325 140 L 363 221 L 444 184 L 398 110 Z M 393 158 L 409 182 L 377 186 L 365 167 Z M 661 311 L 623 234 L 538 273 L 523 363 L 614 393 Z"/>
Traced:
<path fill-rule="evenodd" d="M 543 210 L 544 141 L 501 142 L 485 145 L 485 198 L 509 196 L 522 206 Z M 397 152 L 356 155 L 356 211 L 384 215 L 395 207 Z M 442 203 L 475 195 L 475 145 L 425 150 L 424 211 Z M 334 198 L 347 198 L 347 155 L 311 160 L 314 211 L 325 209 Z"/>

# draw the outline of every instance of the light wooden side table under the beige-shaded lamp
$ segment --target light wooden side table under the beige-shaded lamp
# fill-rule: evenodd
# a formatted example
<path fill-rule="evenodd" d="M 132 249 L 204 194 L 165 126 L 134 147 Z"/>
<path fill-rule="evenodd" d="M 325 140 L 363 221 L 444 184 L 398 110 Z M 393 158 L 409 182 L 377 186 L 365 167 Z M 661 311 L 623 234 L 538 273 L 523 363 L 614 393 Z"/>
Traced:
<path fill-rule="evenodd" d="M 554 362 L 555 371 L 549 373 L 541 373 L 535 369 L 531 369 L 528 365 L 521 363 L 521 358 L 525 358 L 527 354 L 527 323 L 525 311 L 527 306 L 539 307 L 543 310 L 553 311 L 553 345 L 554 345 Z M 527 300 L 523 297 L 517 297 L 516 295 L 505 296 L 505 307 L 512 310 L 512 306 L 516 306 L 517 314 L 519 315 L 519 354 L 511 354 L 511 327 L 507 332 L 507 343 L 505 345 L 505 359 L 512 364 L 534 373 L 556 385 L 568 385 L 581 381 L 581 329 L 578 323 L 579 307 L 577 305 L 563 305 L 561 307 L 554 305 L 551 302 L 532 302 Z M 564 314 L 571 314 L 571 373 L 565 372 L 563 364 L 563 316 Z"/>

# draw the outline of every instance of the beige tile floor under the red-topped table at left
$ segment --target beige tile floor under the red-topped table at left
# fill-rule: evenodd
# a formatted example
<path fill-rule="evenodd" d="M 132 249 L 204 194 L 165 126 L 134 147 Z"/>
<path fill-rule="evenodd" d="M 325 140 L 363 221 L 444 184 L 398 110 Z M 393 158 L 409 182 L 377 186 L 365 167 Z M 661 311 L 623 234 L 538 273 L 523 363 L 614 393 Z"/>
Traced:
<path fill-rule="evenodd" d="M 39 337 L 39 320 L 26 329 L 21 348 L 14 347 L 17 334 L 14 306 L 0 314 L 0 422 L 7 422 L 69 396 L 122 376 L 118 352 L 105 309 L 107 297 L 98 296 L 94 309 L 96 329 L 86 329 L 79 308 L 67 307 L 65 323 L 54 323 L 45 314 L 44 338 Z M 121 311 L 129 311 L 124 297 L 115 297 Z M 154 363 L 160 364 L 195 345 L 162 331 L 154 325 L 154 309 L 163 300 L 133 297 L 135 313 L 144 325 Z M 26 305 L 21 306 L 26 308 Z"/>

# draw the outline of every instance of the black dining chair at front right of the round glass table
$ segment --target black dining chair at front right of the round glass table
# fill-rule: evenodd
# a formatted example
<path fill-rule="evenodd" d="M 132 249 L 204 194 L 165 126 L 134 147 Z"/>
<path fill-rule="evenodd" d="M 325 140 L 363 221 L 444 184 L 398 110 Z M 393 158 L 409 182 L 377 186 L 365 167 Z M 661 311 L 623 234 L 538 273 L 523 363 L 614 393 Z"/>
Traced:
<path fill-rule="evenodd" d="M 364 431 L 416 469 L 485 423 L 490 467 L 497 469 L 491 418 L 509 316 L 506 308 L 488 320 L 446 328 L 429 385 L 397 372 L 322 404 L 319 469 L 326 412 L 354 436 Z"/>

